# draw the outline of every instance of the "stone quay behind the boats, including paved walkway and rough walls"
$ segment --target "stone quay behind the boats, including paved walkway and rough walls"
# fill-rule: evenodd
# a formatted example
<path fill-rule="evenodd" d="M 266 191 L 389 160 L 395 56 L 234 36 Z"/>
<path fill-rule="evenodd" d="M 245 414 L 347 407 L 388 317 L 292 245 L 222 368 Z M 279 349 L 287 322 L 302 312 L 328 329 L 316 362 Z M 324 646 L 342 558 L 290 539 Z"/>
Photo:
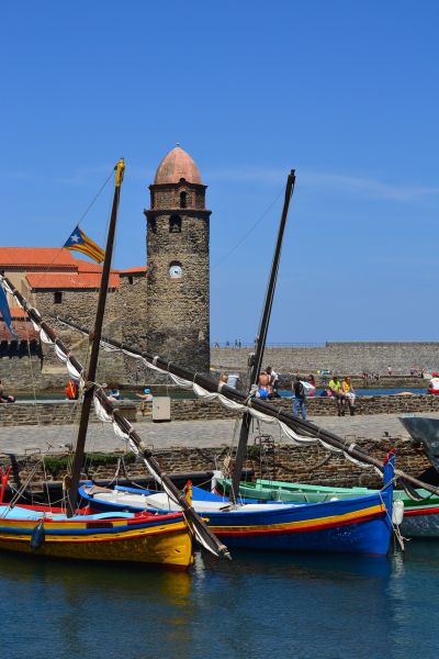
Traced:
<path fill-rule="evenodd" d="M 227 414 L 222 418 L 211 418 L 205 414 L 206 404 L 201 401 L 176 401 L 176 403 L 178 404 L 173 407 L 175 415 L 171 422 L 154 423 L 150 417 L 142 416 L 137 416 L 135 422 L 135 427 L 148 448 L 153 450 L 164 471 L 182 474 L 194 471 L 210 472 L 223 468 L 230 448 L 237 443 L 239 432 L 237 417 L 232 418 Z M 322 403 L 326 405 L 326 401 Z M 75 445 L 77 434 L 75 405 L 64 404 L 64 413 L 66 409 L 70 411 L 69 424 L 65 421 L 60 423 L 60 416 L 57 416 L 55 423 L 52 422 L 47 411 L 49 405 L 49 403 L 37 404 L 40 420 L 34 425 L 30 425 L 29 421 L 21 425 L 5 425 L 3 417 L 3 427 L 0 428 L 0 463 L 2 467 L 8 463 L 13 465 L 15 487 L 24 483 L 34 468 L 36 468 L 33 485 L 35 490 L 42 489 L 44 479 L 56 483 L 66 474 L 67 458 L 70 446 Z M 19 409 L 25 406 L 2 405 L 0 410 L 1 412 L 15 410 L 19 413 Z M 29 409 L 31 407 L 32 405 L 29 405 Z M 53 407 L 55 414 L 55 410 L 63 407 L 63 404 L 55 403 Z M 189 409 L 192 409 L 192 412 L 198 409 L 199 420 L 188 421 L 188 417 L 190 418 L 188 415 L 185 420 L 178 421 L 177 411 L 179 417 L 183 418 L 183 412 L 188 412 Z M 398 422 L 398 414 L 399 412 L 370 413 L 353 417 L 337 417 L 311 413 L 309 420 L 349 443 L 357 443 L 379 459 L 383 459 L 386 453 L 395 447 L 398 468 L 413 476 L 419 476 L 429 468 L 429 462 L 424 453 L 409 440 Z M 439 417 L 439 409 L 427 414 Z M 65 414 L 64 418 L 66 418 Z M 271 438 L 268 443 L 267 436 Z M 136 480 L 147 476 L 145 467 L 134 460 L 127 443 L 114 435 L 110 424 L 102 424 L 94 418 L 89 426 L 87 448 L 89 453 L 83 468 L 85 479 L 92 478 L 99 481 L 125 477 Z M 102 455 L 105 459 L 102 459 Z M 45 456 L 44 461 L 43 456 Z M 295 482 L 380 487 L 380 479 L 373 470 L 361 469 L 319 445 L 306 448 L 296 446 L 281 435 L 275 424 L 255 424 L 245 468 L 252 470 L 256 477 Z"/>

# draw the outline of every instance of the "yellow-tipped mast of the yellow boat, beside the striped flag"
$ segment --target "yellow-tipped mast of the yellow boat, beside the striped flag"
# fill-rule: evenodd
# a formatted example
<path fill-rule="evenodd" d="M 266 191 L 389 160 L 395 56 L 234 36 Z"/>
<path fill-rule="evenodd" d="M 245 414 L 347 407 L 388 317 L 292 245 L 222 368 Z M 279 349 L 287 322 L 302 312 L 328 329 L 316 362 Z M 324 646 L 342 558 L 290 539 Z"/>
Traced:
<path fill-rule="evenodd" d="M 86 446 L 86 437 L 87 437 L 87 428 L 89 425 L 89 416 L 91 403 L 93 400 L 94 392 L 94 382 L 95 375 L 98 370 L 98 358 L 99 358 L 99 346 L 102 336 L 102 324 L 103 316 L 105 313 L 105 303 L 106 303 L 106 291 L 109 288 L 110 280 L 110 269 L 111 269 L 111 259 L 113 257 L 113 247 L 114 247 L 114 234 L 117 222 L 117 209 L 119 201 L 121 198 L 121 186 L 125 172 L 125 163 L 124 159 L 121 158 L 117 165 L 114 167 L 115 169 L 115 187 L 114 187 L 114 197 L 113 197 L 113 206 L 111 210 L 111 219 L 110 219 L 110 227 L 109 235 L 106 238 L 106 248 L 105 248 L 105 258 L 102 267 L 102 278 L 101 278 L 101 289 L 99 291 L 98 299 L 98 310 L 94 321 L 94 328 L 90 334 L 90 340 L 92 340 L 91 353 L 90 353 L 90 361 L 89 369 L 87 372 L 87 386 L 85 389 L 83 401 L 82 401 L 82 410 L 81 410 L 81 418 L 79 421 L 79 429 L 78 429 L 78 439 L 76 446 L 75 461 L 71 473 L 71 484 L 69 489 L 69 510 L 68 516 L 71 517 L 74 515 L 77 502 L 78 502 L 78 488 L 80 473 L 83 461 L 83 453 Z"/>

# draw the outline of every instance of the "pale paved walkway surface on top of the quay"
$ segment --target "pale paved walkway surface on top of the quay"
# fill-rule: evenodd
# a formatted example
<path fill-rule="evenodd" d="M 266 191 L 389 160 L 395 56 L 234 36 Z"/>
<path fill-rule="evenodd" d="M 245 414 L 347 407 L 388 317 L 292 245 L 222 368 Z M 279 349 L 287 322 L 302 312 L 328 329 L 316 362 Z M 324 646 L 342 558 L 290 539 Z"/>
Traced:
<path fill-rule="evenodd" d="M 419 416 L 421 416 L 419 414 Z M 427 416 L 427 414 L 426 414 Z M 439 417 L 439 414 L 429 413 L 428 416 Z M 309 417 L 327 431 L 341 437 L 380 439 L 385 433 L 391 437 L 406 437 L 396 415 L 376 414 L 364 416 L 318 416 Z M 234 421 L 176 421 L 170 423 L 153 423 L 142 421 L 135 424 L 145 444 L 149 448 L 179 447 L 216 447 L 229 446 L 238 438 L 238 428 Z M 284 435 L 280 435 L 275 424 L 261 424 L 261 431 L 273 435 L 274 439 L 288 443 Z M 15 426 L 0 428 L 0 453 L 23 455 L 25 453 L 64 453 L 66 444 L 75 445 L 77 426 Z M 251 440 L 250 440 L 251 442 Z M 126 449 L 126 443 L 116 437 L 110 424 L 90 424 L 87 442 L 89 451 L 106 451 Z"/>

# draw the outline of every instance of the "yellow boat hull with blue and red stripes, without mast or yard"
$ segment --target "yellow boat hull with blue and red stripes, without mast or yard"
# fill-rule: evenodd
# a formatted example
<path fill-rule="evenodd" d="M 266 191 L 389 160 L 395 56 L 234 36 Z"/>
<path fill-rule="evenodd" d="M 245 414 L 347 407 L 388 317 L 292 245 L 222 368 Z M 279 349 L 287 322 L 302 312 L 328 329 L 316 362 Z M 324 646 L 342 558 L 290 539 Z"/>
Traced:
<path fill-rule="evenodd" d="M 187 570 L 192 543 L 181 513 L 79 514 L 0 505 L 0 549 L 46 558 L 123 561 Z"/>

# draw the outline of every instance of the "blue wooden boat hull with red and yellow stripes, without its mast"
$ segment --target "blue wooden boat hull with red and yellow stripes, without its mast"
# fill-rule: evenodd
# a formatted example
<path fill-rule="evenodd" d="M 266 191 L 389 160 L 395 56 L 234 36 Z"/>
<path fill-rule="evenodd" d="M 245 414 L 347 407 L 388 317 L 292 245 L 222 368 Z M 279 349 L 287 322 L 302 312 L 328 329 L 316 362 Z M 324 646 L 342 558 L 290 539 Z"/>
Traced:
<path fill-rule="evenodd" d="M 385 555 L 392 535 L 393 457 L 384 468 L 387 487 L 363 496 L 312 504 L 238 504 L 204 493 L 192 506 L 213 533 L 235 549 Z M 80 496 L 97 510 L 175 509 L 161 492 L 100 492 L 81 487 Z"/>

